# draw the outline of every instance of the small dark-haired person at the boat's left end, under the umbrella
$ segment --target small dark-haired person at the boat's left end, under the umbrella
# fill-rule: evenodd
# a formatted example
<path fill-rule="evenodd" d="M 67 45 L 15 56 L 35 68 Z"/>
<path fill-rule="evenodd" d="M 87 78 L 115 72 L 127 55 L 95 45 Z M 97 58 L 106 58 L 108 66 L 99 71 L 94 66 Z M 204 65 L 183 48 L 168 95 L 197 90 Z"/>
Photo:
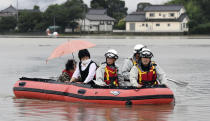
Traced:
<path fill-rule="evenodd" d="M 76 61 L 71 59 L 66 62 L 65 69 L 62 71 L 62 74 L 58 78 L 58 82 L 70 81 L 71 77 L 76 69 Z"/>

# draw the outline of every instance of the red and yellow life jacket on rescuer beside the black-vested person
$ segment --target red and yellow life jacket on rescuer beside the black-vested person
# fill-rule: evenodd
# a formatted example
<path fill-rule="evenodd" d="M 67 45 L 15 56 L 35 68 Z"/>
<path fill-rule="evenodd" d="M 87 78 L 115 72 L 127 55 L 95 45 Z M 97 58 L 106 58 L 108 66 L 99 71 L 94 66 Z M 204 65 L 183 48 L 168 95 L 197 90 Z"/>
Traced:
<path fill-rule="evenodd" d="M 104 72 L 104 82 L 107 85 L 119 86 L 117 68 L 113 69 L 109 67 L 108 65 L 106 66 L 105 72 Z"/>

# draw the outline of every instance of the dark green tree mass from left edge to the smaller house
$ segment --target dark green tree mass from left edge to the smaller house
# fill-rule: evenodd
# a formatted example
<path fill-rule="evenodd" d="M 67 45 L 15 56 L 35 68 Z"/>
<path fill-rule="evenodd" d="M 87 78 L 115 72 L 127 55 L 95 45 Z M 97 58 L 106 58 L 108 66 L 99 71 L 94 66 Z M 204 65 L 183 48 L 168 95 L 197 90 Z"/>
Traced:
<path fill-rule="evenodd" d="M 18 22 L 15 17 L 0 18 L 0 32 L 13 30 L 17 25 L 18 31 L 45 31 L 47 27 L 60 26 L 62 31 L 66 27 L 74 29 L 78 26 L 75 20 L 83 18 L 87 5 L 83 0 L 67 0 L 65 3 L 50 5 L 46 11 L 41 12 L 39 6 L 33 10 L 19 11 Z"/>

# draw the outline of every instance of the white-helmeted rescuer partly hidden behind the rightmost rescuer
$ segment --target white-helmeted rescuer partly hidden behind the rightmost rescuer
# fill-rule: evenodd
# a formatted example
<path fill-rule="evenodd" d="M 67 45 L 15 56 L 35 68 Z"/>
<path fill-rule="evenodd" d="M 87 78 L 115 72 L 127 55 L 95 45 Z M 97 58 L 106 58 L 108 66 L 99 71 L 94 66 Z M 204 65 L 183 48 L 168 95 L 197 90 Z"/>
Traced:
<path fill-rule="evenodd" d="M 133 55 L 130 58 L 126 58 L 124 60 L 123 66 L 122 66 L 122 75 L 124 77 L 125 85 L 131 86 L 130 84 L 130 71 L 131 68 L 138 63 L 140 60 L 140 52 L 143 48 L 146 48 L 146 46 L 142 44 L 137 44 L 134 46 Z"/>

